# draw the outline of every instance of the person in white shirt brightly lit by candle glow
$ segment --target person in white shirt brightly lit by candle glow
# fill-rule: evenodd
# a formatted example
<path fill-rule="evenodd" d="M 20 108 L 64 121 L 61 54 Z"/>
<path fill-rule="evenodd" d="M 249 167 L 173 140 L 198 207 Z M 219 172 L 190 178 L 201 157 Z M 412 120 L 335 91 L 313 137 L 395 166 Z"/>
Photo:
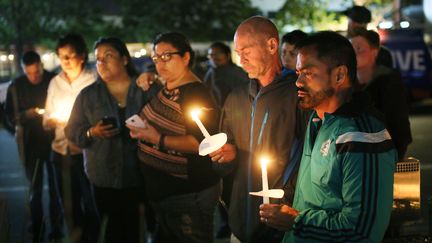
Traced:
<path fill-rule="evenodd" d="M 92 203 L 90 184 L 84 174 L 82 151 L 66 138 L 64 128 L 79 92 L 94 83 L 97 76 L 86 67 L 88 50 L 81 35 L 68 34 L 61 37 L 56 45 L 56 53 L 62 71 L 51 80 L 48 87 L 43 125 L 45 129 L 55 131 L 52 161 L 61 189 L 62 168 L 70 173 L 72 233 L 77 232 L 77 237 L 83 241 L 94 242 L 98 231 L 95 223 L 97 213 Z"/>

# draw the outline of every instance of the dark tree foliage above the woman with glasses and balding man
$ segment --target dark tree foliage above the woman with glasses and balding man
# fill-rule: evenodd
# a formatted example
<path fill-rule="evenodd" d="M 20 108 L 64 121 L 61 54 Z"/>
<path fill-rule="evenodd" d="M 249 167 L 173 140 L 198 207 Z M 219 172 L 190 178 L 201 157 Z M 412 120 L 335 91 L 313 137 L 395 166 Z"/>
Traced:
<path fill-rule="evenodd" d="M 149 41 L 156 34 L 179 31 L 193 41 L 231 40 L 241 21 L 258 10 L 248 0 L 123 0 L 123 30 Z"/>

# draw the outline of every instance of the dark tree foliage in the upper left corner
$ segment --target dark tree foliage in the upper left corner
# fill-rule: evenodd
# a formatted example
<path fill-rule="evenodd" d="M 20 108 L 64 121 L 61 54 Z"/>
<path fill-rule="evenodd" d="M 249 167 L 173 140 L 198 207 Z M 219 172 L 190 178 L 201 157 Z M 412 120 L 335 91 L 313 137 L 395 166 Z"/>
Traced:
<path fill-rule="evenodd" d="M 93 26 L 105 24 L 98 13 L 85 0 L 0 0 L 1 44 L 15 54 L 15 70 L 20 70 L 23 51 L 35 43 L 52 47 L 67 32 L 94 35 Z"/>

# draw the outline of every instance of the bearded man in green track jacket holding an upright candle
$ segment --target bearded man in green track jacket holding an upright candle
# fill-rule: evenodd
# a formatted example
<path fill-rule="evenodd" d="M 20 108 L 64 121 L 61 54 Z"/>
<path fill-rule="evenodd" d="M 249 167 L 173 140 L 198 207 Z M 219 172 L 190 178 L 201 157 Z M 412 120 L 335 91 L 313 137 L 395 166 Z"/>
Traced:
<path fill-rule="evenodd" d="M 390 219 L 397 153 L 366 95 L 353 94 L 356 57 L 335 32 L 298 46 L 300 107 L 314 109 L 292 207 L 260 206 L 283 242 L 380 242 Z"/>

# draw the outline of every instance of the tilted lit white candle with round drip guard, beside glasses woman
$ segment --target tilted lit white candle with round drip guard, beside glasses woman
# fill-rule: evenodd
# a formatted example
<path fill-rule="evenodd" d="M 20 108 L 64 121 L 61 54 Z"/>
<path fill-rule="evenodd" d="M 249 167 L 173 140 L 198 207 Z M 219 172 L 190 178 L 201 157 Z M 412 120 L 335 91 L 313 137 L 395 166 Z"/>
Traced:
<path fill-rule="evenodd" d="M 202 124 L 199 115 L 201 113 L 201 109 L 193 109 L 191 111 L 192 120 L 195 121 L 198 128 L 201 130 L 204 135 L 204 140 L 201 141 L 199 145 L 199 155 L 205 156 L 209 153 L 212 153 L 218 149 L 220 149 L 227 141 L 227 135 L 225 133 L 218 133 L 216 135 L 211 136 L 207 129 Z"/>

